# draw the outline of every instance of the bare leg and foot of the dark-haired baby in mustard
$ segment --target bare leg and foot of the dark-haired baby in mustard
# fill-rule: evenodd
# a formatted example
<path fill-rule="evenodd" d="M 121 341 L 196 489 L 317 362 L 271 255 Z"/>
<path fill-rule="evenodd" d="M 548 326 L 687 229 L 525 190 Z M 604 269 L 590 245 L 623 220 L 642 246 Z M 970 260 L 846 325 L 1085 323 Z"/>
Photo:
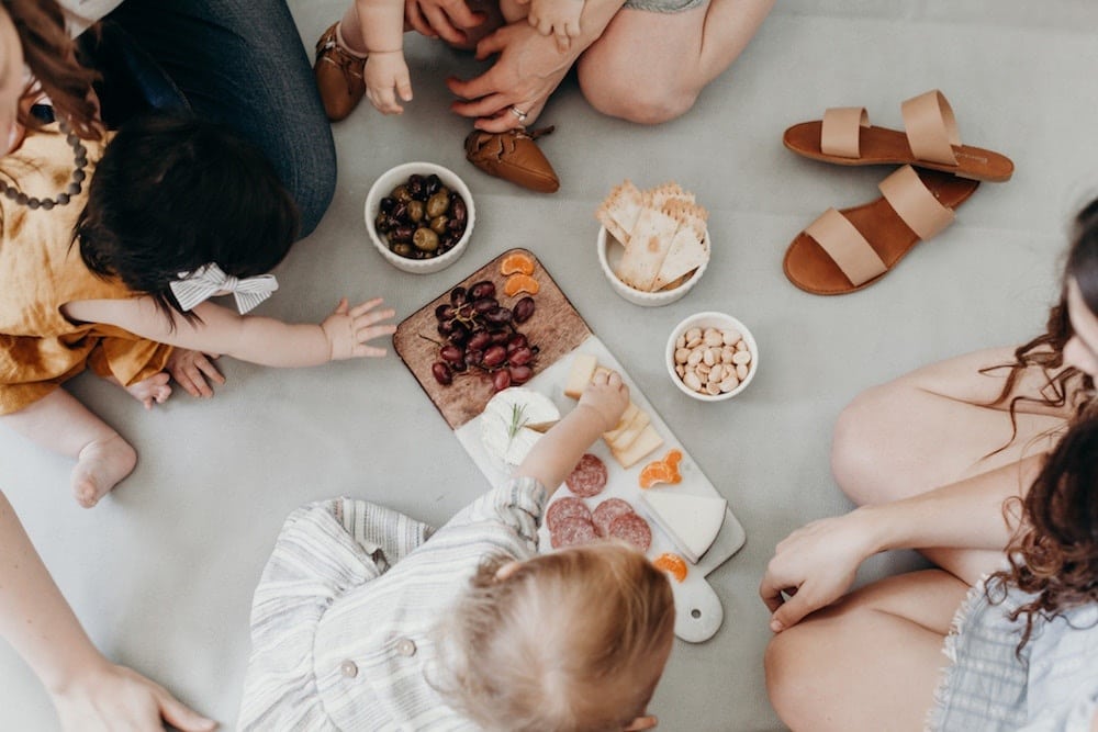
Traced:
<path fill-rule="evenodd" d="M 133 447 L 61 388 L 0 421 L 44 448 L 76 459 L 72 493 L 85 508 L 99 503 L 137 464 Z"/>

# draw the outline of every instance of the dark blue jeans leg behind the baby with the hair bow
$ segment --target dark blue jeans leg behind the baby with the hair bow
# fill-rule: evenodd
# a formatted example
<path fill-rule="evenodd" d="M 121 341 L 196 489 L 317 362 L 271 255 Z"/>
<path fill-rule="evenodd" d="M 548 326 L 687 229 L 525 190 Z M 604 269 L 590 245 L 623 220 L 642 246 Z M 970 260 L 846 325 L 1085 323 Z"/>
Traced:
<path fill-rule="evenodd" d="M 301 236 L 316 228 L 335 192 L 335 145 L 284 0 L 125 0 L 103 25 L 101 45 L 130 46 L 148 105 L 190 110 L 258 145 L 298 203 Z"/>

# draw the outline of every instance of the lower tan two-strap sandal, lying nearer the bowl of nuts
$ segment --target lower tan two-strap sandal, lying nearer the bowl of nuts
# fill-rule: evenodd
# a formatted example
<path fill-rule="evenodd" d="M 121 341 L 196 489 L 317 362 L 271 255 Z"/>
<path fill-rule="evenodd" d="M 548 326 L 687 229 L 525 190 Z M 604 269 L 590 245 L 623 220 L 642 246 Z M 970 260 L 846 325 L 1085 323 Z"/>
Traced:
<path fill-rule="evenodd" d="M 816 295 L 842 295 L 873 284 L 909 252 L 953 223 L 953 210 L 979 181 L 904 166 L 881 181 L 882 198 L 828 209 L 785 252 L 789 282 Z"/>

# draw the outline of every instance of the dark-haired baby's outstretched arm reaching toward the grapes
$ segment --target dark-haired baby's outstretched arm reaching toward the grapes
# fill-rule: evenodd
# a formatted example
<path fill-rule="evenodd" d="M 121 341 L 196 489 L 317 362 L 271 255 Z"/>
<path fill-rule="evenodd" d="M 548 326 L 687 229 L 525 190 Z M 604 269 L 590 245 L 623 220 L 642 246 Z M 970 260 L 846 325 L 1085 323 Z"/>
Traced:
<path fill-rule="evenodd" d="M 61 309 L 75 320 L 114 325 L 142 338 L 202 353 L 224 353 L 260 365 L 306 367 L 384 356 L 384 348 L 369 345 L 396 330 L 395 325 L 382 323 L 395 312 L 378 309 L 381 303 L 381 297 L 376 297 L 349 307 L 344 297 L 318 325 L 239 315 L 209 301 L 192 311 L 202 318 L 195 323 L 178 313 L 169 320 L 150 297 L 85 300 Z"/>

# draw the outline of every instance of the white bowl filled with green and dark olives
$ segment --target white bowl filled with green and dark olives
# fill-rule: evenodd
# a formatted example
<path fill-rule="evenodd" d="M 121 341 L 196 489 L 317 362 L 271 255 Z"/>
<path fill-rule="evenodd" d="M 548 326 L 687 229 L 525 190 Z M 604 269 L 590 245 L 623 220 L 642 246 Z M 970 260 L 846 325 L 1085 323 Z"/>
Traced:
<path fill-rule="evenodd" d="M 413 274 L 444 270 L 469 246 L 475 214 L 469 187 L 434 162 L 405 162 L 366 195 L 366 230 L 385 261 Z"/>

